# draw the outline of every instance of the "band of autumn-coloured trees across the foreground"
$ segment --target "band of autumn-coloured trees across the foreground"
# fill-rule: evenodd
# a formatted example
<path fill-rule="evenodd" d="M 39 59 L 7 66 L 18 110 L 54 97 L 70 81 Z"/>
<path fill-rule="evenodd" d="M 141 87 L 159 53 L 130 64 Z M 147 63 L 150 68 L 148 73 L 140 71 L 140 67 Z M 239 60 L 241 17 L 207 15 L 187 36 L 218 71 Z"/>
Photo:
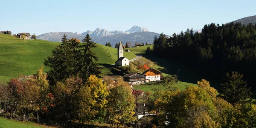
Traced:
<path fill-rule="evenodd" d="M 256 105 L 247 100 L 250 88 L 238 72 L 227 73 L 220 95 L 204 79 L 183 91 L 173 86 L 171 79 L 164 83 L 165 90 L 155 88 L 151 93 L 133 92 L 122 77 L 102 81 L 90 75 L 84 83 L 79 76 L 70 76 L 51 85 L 41 67 L 32 78 L 20 76 L 0 84 L 0 108 L 10 118 L 35 117 L 37 122 L 49 124 L 78 121 L 140 128 L 256 126 Z M 137 120 L 138 114 L 145 112 L 154 115 Z"/>

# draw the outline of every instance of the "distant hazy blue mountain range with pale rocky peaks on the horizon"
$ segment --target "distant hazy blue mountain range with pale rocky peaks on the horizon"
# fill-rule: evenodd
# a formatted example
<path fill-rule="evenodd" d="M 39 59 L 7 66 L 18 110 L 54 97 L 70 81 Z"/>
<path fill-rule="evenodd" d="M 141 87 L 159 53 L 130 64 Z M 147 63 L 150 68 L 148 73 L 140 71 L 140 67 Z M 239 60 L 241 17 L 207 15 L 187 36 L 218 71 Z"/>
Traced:
<path fill-rule="evenodd" d="M 106 42 L 111 42 L 111 45 L 114 46 L 120 40 L 123 43 L 126 42 L 148 42 L 152 43 L 154 36 L 159 36 L 159 33 L 148 32 L 147 28 L 139 27 L 134 25 L 131 29 L 127 31 L 108 31 L 106 29 L 97 28 L 95 31 L 86 31 L 83 33 L 79 32 L 50 32 L 44 33 L 37 36 L 37 39 L 43 39 L 54 42 L 61 42 L 61 37 L 66 34 L 67 38 L 77 38 L 84 39 L 84 36 L 90 34 L 93 41 L 102 45 L 105 45 Z"/>

